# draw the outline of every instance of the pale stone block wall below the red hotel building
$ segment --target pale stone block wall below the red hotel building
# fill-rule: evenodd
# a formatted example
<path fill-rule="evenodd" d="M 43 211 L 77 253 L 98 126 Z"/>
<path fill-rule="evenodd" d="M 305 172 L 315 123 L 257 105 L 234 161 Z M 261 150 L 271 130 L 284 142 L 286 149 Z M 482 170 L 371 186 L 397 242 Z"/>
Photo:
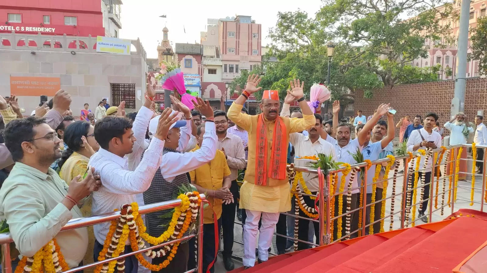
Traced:
<path fill-rule="evenodd" d="M 109 97 L 112 105 L 111 83 L 135 84 L 135 96 L 137 90 L 142 90 L 143 99 L 147 71 L 145 52 L 119 55 L 75 51 L 75 54 L 63 51 L 31 53 L 31 50 L 1 49 L 0 94 L 10 95 L 10 76 L 59 77 L 61 88 L 73 98 L 71 109 L 74 116 L 80 115 L 86 102 L 94 112 L 103 97 Z M 29 115 L 38 105 L 39 97 L 21 96 L 19 102 L 21 107 L 25 107 L 25 114 Z M 142 105 L 142 101 L 137 98 L 135 103 L 137 109 Z"/>

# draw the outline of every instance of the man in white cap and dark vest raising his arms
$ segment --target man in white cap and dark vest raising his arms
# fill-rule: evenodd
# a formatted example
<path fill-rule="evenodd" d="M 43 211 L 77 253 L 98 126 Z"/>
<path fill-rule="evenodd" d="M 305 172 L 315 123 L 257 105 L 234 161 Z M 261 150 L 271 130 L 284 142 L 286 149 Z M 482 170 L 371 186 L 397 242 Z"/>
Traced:
<path fill-rule="evenodd" d="M 201 148 L 194 152 L 181 154 L 178 149 L 180 145 L 180 130 L 176 126 L 169 130 L 168 136 L 165 139 L 164 150 L 162 151 L 162 160 L 158 164 L 159 170 L 155 172 L 150 187 L 144 192 L 144 203 L 146 205 L 172 200 L 173 193 L 177 192 L 181 185 L 190 187 L 188 172 L 203 166 L 215 157 L 217 136 L 215 132 L 213 109 L 208 101 L 204 102 L 201 98 L 196 99 L 197 102 L 193 101 L 195 108 L 198 109 L 201 114 L 206 116 L 205 134 L 203 135 Z M 185 107 L 181 105 L 181 102 L 173 102 L 176 102 L 175 104 L 179 109 Z M 191 114 L 185 113 L 183 119 L 191 119 Z M 153 128 L 155 128 L 157 126 L 156 124 L 159 122 L 160 121 L 156 118 L 150 120 L 149 134 L 154 133 Z M 166 214 L 165 211 L 146 214 L 147 233 L 150 236 L 159 237 L 166 231 L 170 219 L 160 217 L 164 214 Z M 172 261 L 167 267 L 160 270 L 159 273 L 186 272 L 188 258 L 189 245 L 187 242 L 182 242 L 178 246 L 178 251 Z M 152 258 L 152 264 L 160 264 L 165 259 L 166 257 L 154 257 Z"/>

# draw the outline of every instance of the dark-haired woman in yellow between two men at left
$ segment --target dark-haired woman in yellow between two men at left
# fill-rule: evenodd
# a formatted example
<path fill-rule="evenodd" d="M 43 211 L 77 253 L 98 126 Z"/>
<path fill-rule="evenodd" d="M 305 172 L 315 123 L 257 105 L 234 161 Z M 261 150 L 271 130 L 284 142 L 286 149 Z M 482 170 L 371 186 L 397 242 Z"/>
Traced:
<path fill-rule="evenodd" d="M 83 178 L 88 168 L 90 157 L 98 151 L 100 146 L 94 139 L 94 127 L 88 121 L 76 121 L 70 124 L 64 131 L 64 142 L 68 149 L 62 153 L 59 161 L 59 176 L 61 179 L 70 183 L 77 175 Z M 81 207 L 83 217 L 91 216 L 92 199 L 91 196 L 85 200 Z M 86 252 L 83 264 L 93 263 L 94 233 L 93 226 L 88 227 L 88 251 Z M 86 272 L 86 271 L 85 271 Z"/>

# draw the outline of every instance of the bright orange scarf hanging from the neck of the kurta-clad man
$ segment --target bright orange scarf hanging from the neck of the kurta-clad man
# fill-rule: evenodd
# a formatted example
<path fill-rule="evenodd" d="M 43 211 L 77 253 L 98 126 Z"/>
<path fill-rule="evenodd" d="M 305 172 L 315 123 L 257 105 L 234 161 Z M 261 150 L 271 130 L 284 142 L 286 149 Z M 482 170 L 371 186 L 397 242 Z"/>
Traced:
<path fill-rule="evenodd" d="M 255 185 L 267 185 L 267 178 L 284 179 L 286 177 L 287 147 L 288 140 L 285 136 L 286 126 L 281 117 L 276 117 L 274 123 L 274 134 L 272 137 L 272 150 L 270 171 L 267 170 L 267 127 L 265 126 L 264 114 L 259 115 L 257 121 L 257 153 L 255 164 Z"/>

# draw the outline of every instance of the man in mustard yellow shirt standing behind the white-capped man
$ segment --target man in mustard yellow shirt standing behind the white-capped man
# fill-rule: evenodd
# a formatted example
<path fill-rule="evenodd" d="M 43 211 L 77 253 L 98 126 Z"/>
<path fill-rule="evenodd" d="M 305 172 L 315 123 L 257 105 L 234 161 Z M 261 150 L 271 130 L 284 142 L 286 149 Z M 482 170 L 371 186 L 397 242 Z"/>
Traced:
<path fill-rule="evenodd" d="M 201 146 L 203 142 L 203 135 L 205 135 L 205 124 L 198 125 L 196 131 L 196 140 Z M 191 152 L 200 149 L 196 146 Z M 222 226 L 222 204 L 233 203 L 233 195 L 230 192 L 232 180 L 230 179 L 230 169 L 226 163 L 225 154 L 217 150 L 215 158 L 208 163 L 190 171 L 191 184 L 194 185 L 199 192 L 204 192 L 207 196 L 208 202 L 211 206 L 207 206 L 203 212 L 203 271 L 206 272 L 208 265 L 216 258 L 215 257 L 215 219 L 218 222 L 218 230 L 216 234 L 217 240 L 220 238 L 220 227 Z M 213 214 L 213 211 L 215 212 Z M 196 260 L 194 259 L 194 238 L 189 243 L 189 261 L 188 268 L 196 267 Z M 209 271 L 214 272 L 212 265 Z"/>

